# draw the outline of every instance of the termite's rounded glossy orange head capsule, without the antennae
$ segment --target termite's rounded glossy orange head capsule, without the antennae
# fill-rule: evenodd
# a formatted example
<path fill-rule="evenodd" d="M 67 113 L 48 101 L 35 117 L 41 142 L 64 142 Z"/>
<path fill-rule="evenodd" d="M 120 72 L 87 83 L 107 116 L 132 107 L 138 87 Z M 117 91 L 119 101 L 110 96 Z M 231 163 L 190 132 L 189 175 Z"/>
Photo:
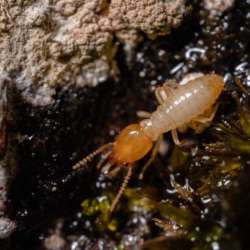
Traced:
<path fill-rule="evenodd" d="M 129 164 L 143 158 L 152 148 L 152 140 L 139 124 L 124 128 L 114 142 L 111 159 L 115 164 Z"/>

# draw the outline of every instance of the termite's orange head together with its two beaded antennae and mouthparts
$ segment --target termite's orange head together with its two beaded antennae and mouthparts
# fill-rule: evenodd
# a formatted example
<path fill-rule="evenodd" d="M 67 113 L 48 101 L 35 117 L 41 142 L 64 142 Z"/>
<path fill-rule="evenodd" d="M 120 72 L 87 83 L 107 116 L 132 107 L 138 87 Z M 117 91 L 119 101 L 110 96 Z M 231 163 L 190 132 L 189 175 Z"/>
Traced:
<path fill-rule="evenodd" d="M 106 150 L 108 150 L 108 152 L 103 158 L 104 160 L 99 162 L 97 168 L 102 167 L 106 161 L 107 163 L 103 168 L 108 167 L 107 171 L 109 171 L 113 166 L 118 167 L 115 168 L 114 171 L 116 169 L 119 170 L 119 166 L 126 166 L 127 174 L 110 207 L 110 211 L 112 212 L 132 175 L 132 164 L 143 158 L 152 149 L 152 146 L 153 141 L 146 135 L 143 128 L 139 124 L 131 124 L 120 132 L 113 143 L 105 144 L 88 156 L 84 157 L 81 161 L 73 166 L 73 169 L 76 170 L 86 166 L 86 164 L 90 162 L 96 155 L 101 154 Z"/>

